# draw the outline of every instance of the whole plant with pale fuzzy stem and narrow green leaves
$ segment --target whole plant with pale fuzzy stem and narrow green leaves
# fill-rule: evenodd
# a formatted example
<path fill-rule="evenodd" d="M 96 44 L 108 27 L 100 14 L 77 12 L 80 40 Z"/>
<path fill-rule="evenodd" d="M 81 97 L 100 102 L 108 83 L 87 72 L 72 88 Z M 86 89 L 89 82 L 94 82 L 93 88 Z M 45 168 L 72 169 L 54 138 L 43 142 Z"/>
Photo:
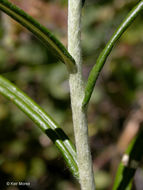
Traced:
<path fill-rule="evenodd" d="M 9 82 L 3 76 L 0 76 L 0 92 L 6 98 L 15 103 L 25 114 L 29 116 L 39 126 L 44 133 L 55 143 L 62 153 L 68 167 L 73 175 L 79 180 L 81 188 L 84 190 L 95 189 L 94 176 L 92 171 L 92 162 L 90 148 L 88 144 L 88 127 L 87 127 L 87 106 L 93 92 L 96 80 L 102 70 L 104 63 L 110 54 L 113 46 L 121 35 L 126 31 L 128 26 L 133 22 L 137 15 L 143 9 L 143 1 L 131 10 L 119 28 L 115 31 L 104 50 L 99 55 L 95 66 L 92 68 L 89 78 L 84 86 L 82 79 L 82 55 L 81 55 L 81 0 L 69 1 L 69 18 L 68 18 L 68 51 L 44 26 L 35 21 L 31 16 L 24 11 L 11 4 L 7 0 L 0 0 L 0 9 L 6 14 L 14 18 L 17 22 L 22 24 L 30 30 L 37 38 L 39 38 L 46 46 L 50 47 L 54 54 L 67 66 L 69 72 L 69 83 L 71 90 L 71 105 L 73 113 L 73 124 L 75 132 L 75 144 L 71 143 L 66 134 L 56 124 L 56 122 L 45 113 L 33 100 L 31 100 L 18 87 Z M 136 140 L 129 146 L 130 162 L 136 160 L 132 155 L 137 156 L 137 161 L 140 161 L 142 151 L 138 151 L 137 144 L 140 142 L 141 135 L 136 137 Z M 141 141 L 142 143 L 142 141 Z M 77 153 L 76 153 L 77 151 Z M 122 163 L 121 163 L 122 164 Z M 115 180 L 114 189 L 129 189 L 131 187 L 130 180 L 133 177 L 136 168 L 130 165 L 120 166 Z M 124 174 L 127 171 L 127 174 Z M 124 177 L 124 175 L 125 177 Z M 130 180 L 123 183 L 128 174 L 131 174 Z M 123 177 L 122 177 L 123 176 Z M 123 186 L 121 185 L 123 184 Z"/>

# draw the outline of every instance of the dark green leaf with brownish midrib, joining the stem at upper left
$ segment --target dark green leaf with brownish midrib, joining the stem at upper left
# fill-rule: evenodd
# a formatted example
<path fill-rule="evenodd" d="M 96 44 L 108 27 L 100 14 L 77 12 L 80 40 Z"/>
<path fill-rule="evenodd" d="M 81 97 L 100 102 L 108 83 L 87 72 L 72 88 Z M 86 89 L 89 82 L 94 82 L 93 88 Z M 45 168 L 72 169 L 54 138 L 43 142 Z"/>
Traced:
<path fill-rule="evenodd" d="M 0 0 L 0 10 L 26 27 L 46 46 L 50 47 L 54 54 L 67 65 L 69 72 L 76 72 L 74 59 L 64 45 L 46 27 L 39 24 L 30 15 L 10 3 L 8 0 Z"/>

